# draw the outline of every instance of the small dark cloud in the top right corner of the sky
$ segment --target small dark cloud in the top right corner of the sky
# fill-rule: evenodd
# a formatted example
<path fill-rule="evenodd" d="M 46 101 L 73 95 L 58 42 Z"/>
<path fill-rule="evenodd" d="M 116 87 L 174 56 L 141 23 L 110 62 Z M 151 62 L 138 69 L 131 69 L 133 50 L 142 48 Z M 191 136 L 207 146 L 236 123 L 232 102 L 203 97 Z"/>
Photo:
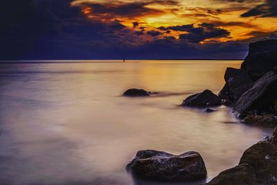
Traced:
<path fill-rule="evenodd" d="M 245 12 L 241 17 L 277 17 L 277 1 L 267 0 Z"/>

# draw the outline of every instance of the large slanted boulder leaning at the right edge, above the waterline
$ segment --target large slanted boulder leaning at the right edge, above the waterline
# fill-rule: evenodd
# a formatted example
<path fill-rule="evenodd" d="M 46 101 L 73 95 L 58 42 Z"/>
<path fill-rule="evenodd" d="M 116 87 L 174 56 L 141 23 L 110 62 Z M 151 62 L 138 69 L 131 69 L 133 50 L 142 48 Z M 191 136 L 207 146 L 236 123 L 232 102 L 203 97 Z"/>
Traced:
<path fill-rule="evenodd" d="M 262 76 L 253 87 L 242 94 L 233 112 L 240 118 L 245 118 L 249 112 L 260 114 L 275 106 L 277 99 L 277 74 L 273 71 Z"/>

